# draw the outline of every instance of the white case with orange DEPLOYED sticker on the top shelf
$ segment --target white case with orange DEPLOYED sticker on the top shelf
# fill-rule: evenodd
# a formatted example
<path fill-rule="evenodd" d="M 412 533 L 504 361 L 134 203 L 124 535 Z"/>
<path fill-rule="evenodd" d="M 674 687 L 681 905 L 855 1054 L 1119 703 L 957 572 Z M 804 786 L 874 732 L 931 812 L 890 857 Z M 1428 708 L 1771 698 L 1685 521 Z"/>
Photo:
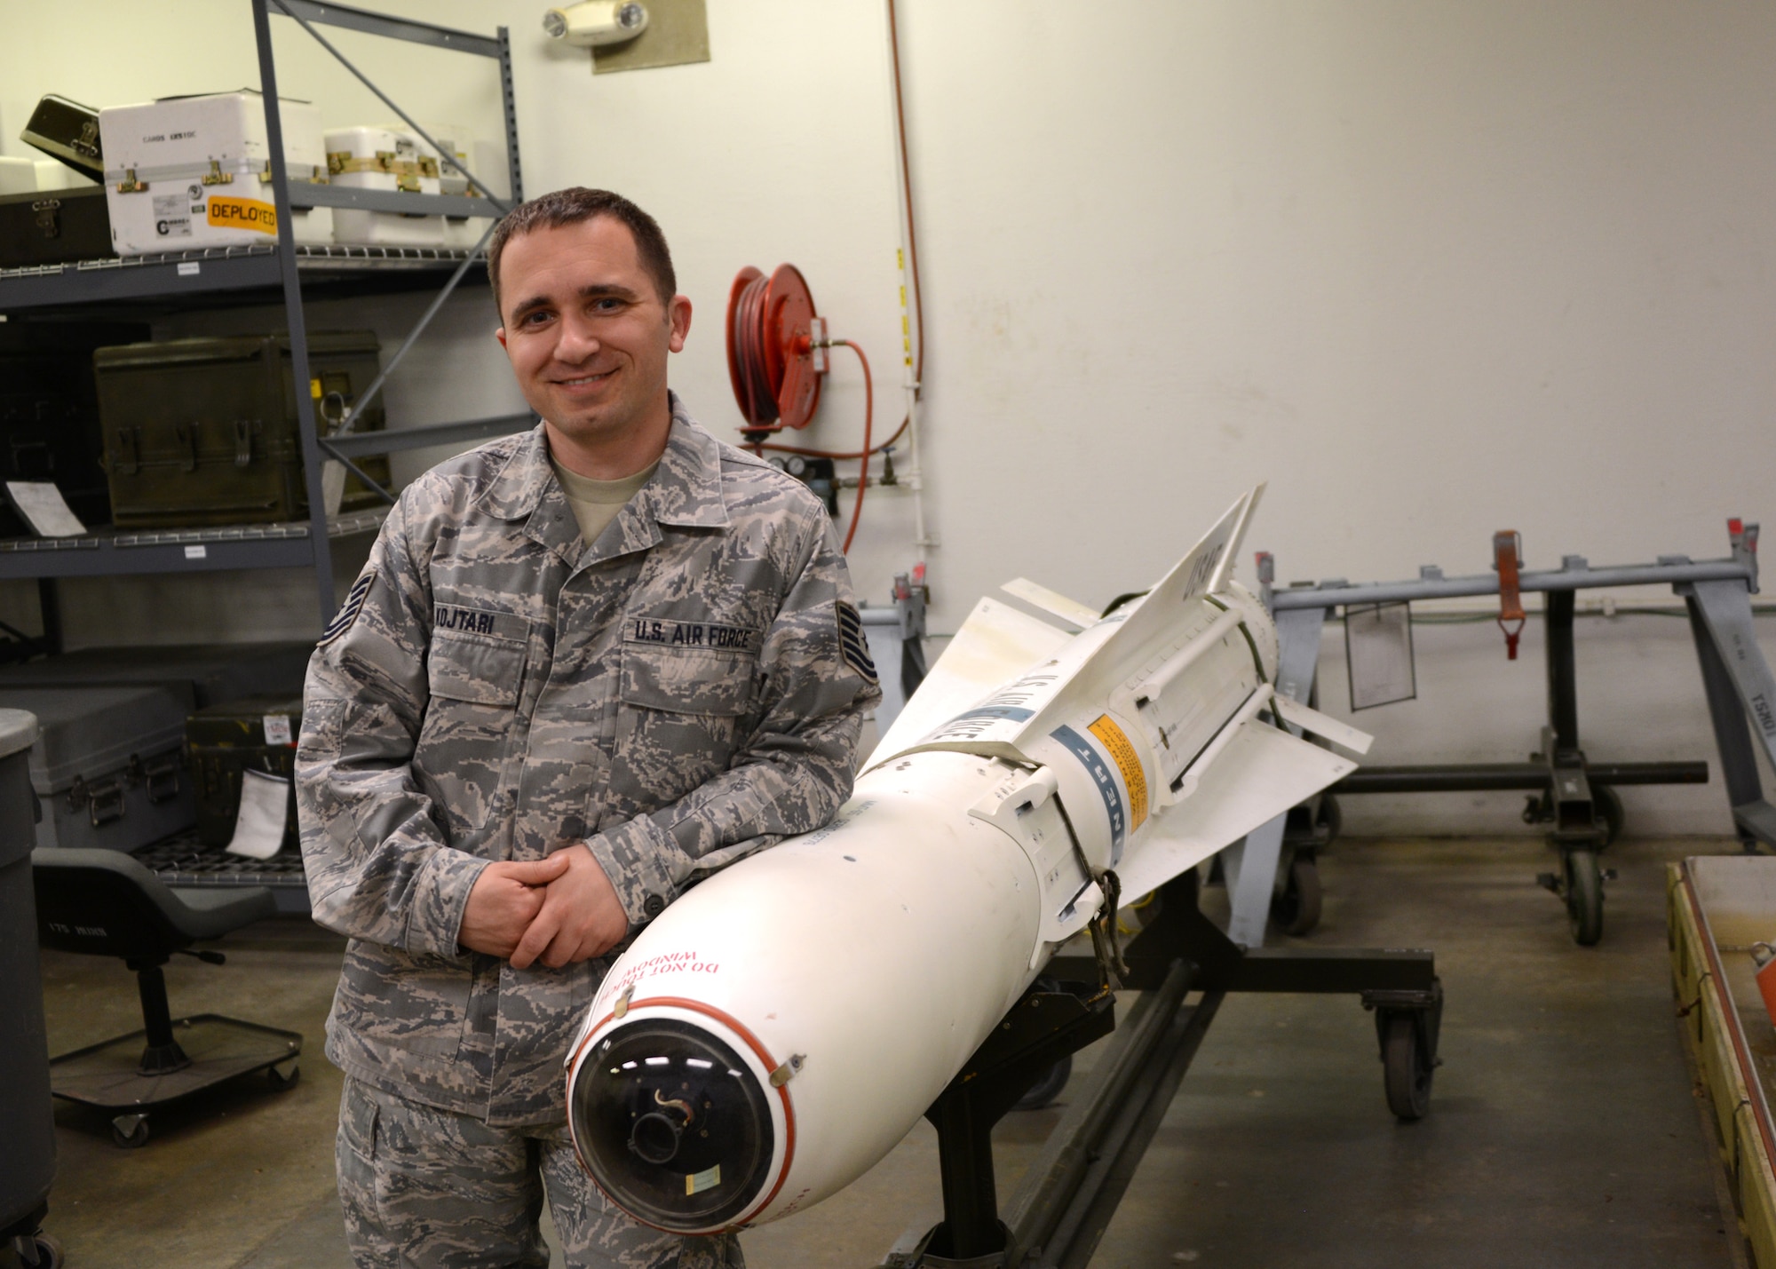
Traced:
<path fill-rule="evenodd" d="M 325 183 L 321 112 L 281 100 L 289 181 Z M 245 247 L 277 236 L 258 92 L 163 98 L 99 110 L 105 203 L 119 256 Z M 295 208 L 297 242 L 332 242 L 330 208 Z"/>

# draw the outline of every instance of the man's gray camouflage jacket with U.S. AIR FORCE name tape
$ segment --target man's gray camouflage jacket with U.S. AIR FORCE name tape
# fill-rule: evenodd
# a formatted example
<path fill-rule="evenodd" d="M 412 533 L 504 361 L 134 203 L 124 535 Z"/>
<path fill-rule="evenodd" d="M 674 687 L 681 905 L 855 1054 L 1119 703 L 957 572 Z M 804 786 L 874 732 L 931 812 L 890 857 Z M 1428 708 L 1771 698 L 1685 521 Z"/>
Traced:
<path fill-rule="evenodd" d="M 609 960 L 460 949 L 469 889 L 584 841 L 634 933 L 824 825 L 879 697 L 851 599 L 821 501 L 677 398 L 657 473 L 591 546 L 542 427 L 416 480 L 309 663 L 302 857 L 314 919 L 350 937 L 327 1056 L 490 1123 L 561 1120 Z"/>

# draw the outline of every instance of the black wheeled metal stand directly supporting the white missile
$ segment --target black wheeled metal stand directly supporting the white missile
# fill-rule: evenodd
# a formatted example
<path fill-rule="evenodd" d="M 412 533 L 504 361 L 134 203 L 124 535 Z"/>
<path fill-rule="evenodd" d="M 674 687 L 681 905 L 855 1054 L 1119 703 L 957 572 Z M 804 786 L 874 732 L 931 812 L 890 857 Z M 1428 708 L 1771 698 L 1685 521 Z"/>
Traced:
<path fill-rule="evenodd" d="M 1227 992 L 1350 992 L 1376 1015 L 1387 1104 L 1430 1107 L 1442 986 L 1428 951 L 1245 949 L 1197 906 L 1195 869 L 1167 882 L 1124 949 L 1142 992 L 1000 1219 L 993 1125 L 1057 1061 L 1115 1027 L 1090 956 L 1055 956 L 925 1113 L 938 1129 L 943 1223 L 913 1230 L 883 1269 L 1085 1269 Z M 1188 994 L 1201 992 L 1195 1004 Z"/>

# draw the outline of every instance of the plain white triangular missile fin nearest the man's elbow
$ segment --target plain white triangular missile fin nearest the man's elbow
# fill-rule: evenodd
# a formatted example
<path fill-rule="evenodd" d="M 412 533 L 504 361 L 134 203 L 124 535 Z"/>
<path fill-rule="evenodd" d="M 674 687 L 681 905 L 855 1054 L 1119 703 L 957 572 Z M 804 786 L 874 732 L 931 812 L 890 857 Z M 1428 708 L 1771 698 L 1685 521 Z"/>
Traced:
<path fill-rule="evenodd" d="M 1048 622 L 996 599 L 980 599 L 943 656 L 925 674 L 893 727 L 863 770 L 879 766 L 922 741 L 934 727 L 963 713 L 1032 665 L 1046 661 L 1073 638 Z"/>

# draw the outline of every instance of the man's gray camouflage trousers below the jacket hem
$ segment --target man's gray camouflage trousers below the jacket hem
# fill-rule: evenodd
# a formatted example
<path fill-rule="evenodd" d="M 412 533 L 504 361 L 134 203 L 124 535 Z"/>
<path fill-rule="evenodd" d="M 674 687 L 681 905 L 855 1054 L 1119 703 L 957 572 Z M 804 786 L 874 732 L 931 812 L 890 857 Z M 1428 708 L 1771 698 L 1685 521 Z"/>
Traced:
<path fill-rule="evenodd" d="M 737 1235 L 687 1239 L 623 1216 L 567 1125 L 492 1129 L 346 1075 L 339 1201 L 357 1269 L 547 1269 L 547 1194 L 568 1269 L 744 1269 Z"/>

